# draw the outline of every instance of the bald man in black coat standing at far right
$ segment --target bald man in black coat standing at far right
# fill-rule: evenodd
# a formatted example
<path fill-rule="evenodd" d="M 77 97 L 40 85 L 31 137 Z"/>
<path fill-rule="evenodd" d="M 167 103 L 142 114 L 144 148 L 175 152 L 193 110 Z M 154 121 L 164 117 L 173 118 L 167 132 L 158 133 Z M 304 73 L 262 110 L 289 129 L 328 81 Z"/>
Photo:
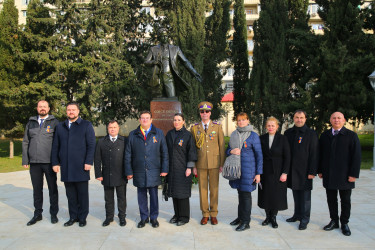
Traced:
<path fill-rule="evenodd" d="M 356 133 L 344 127 L 345 117 L 340 112 L 331 115 L 332 128 L 320 136 L 319 177 L 323 178 L 331 222 L 324 230 L 339 228 L 337 193 L 341 199 L 341 231 L 350 236 L 350 197 L 361 168 L 361 145 Z"/>

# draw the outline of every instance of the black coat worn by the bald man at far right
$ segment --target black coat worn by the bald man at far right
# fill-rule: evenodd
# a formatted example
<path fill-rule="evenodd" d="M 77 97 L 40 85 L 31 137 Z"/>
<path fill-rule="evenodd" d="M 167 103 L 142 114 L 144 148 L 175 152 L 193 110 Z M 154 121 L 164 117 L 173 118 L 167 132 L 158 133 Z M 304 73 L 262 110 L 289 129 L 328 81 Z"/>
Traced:
<path fill-rule="evenodd" d="M 361 145 L 357 134 L 342 127 L 333 136 L 330 129 L 320 136 L 319 144 L 318 173 L 323 174 L 323 186 L 334 190 L 354 188 L 354 182 L 349 182 L 348 178 L 358 178 L 361 168 Z"/>

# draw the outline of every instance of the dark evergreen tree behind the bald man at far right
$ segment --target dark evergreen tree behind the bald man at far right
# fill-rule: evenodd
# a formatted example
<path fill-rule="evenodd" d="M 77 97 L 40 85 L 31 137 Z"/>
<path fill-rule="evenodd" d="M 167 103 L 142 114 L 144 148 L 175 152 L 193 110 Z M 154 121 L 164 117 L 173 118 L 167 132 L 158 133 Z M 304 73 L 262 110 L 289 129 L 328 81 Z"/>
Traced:
<path fill-rule="evenodd" d="M 361 0 L 317 0 L 325 23 L 320 45 L 320 74 L 314 85 L 318 131 L 330 114 L 341 111 L 347 119 L 367 122 L 373 112 L 373 90 L 367 76 L 372 72 L 374 43 L 360 18 Z"/>

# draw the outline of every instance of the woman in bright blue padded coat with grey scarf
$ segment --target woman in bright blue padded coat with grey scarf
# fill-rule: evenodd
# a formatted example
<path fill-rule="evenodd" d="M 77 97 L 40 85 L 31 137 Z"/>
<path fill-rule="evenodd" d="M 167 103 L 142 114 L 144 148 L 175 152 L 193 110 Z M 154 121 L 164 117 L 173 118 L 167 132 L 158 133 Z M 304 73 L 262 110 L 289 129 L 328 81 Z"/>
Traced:
<path fill-rule="evenodd" d="M 231 134 L 226 160 L 237 165 L 236 159 L 229 160 L 230 155 L 240 156 L 238 160 L 241 165 L 240 179 L 229 181 L 232 188 L 238 191 L 238 216 L 230 224 L 238 225 L 236 231 L 243 231 L 250 228 L 251 215 L 251 192 L 256 189 L 256 184 L 260 182 L 262 174 L 263 156 L 259 136 L 253 131 L 249 117 L 241 112 L 236 117 L 237 129 Z M 225 165 L 225 164 L 224 164 Z"/>

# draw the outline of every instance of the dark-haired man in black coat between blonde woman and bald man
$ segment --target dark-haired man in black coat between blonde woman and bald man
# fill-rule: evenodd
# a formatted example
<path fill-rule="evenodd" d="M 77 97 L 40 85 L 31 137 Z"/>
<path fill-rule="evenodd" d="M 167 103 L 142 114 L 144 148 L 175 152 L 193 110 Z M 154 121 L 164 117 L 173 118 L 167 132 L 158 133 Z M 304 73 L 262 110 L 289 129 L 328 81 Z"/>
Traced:
<path fill-rule="evenodd" d="M 293 190 L 294 214 L 287 222 L 300 221 L 299 230 L 305 230 L 310 221 L 312 180 L 319 162 L 319 140 L 316 132 L 306 126 L 306 112 L 297 110 L 294 126 L 284 135 L 288 138 L 291 165 L 288 187 Z"/>

